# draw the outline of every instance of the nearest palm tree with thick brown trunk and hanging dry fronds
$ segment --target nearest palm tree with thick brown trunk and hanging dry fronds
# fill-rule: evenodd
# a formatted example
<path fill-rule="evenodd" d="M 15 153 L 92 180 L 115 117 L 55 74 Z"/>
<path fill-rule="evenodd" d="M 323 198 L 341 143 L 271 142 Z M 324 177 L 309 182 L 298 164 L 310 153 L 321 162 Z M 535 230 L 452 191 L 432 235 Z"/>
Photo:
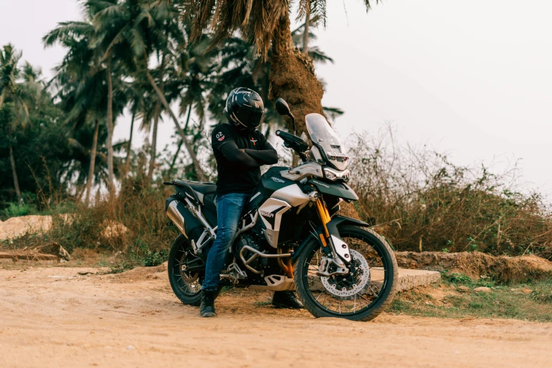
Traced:
<path fill-rule="evenodd" d="M 314 8 L 321 9 L 325 16 L 326 0 L 298 2 L 300 8 L 306 8 L 309 3 L 311 16 Z M 364 4 L 368 10 L 370 1 L 364 0 Z M 293 46 L 289 0 L 185 0 L 183 13 L 192 18 L 192 37 L 197 39 L 202 32 L 213 28 L 214 43 L 219 44 L 239 31 L 255 45 L 264 60 L 270 59 L 270 97 L 282 97 L 293 105 L 299 132 L 305 130 L 306 114 L 323 113 L 324 90 L 314 74 L 312 61 Z"/>

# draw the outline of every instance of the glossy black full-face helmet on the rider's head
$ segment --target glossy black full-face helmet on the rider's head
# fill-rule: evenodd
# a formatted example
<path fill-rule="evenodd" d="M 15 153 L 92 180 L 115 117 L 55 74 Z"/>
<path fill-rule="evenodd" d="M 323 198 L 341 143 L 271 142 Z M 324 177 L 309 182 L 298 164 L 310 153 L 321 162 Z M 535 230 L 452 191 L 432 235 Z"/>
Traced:
<path fill-rule="evenodd" d="M 239 130 L 255 130 L 261 123 L 264 105 L 257 92 L 239 87 L 232 90 L 226 99 L 224 114 Z"/>

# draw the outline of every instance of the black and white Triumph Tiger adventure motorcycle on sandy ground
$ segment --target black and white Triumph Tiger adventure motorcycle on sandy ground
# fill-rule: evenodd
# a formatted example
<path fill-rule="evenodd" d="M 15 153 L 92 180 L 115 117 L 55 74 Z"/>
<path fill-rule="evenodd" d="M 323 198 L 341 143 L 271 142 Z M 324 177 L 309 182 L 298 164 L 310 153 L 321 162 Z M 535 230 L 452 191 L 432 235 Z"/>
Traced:
<path fill-rule="evenodd" d="M 295 118 L 283 99 L 280 115 Z M 300 157 L 297 167 L 273 166 L 252 192 L 228 249 L 223 286 L 296 290 L 314 317 L 369 321 L 391 303 L 398 266 L 386 240 L 369 224 L 338 214 L 358 197 L 347 184 L 350 157 L 320 114 L 305 118 L 307 135 L 276 132 Z M 295 130 L 295 129 L 294 129 Z M 165 182 L 176 193 L 165 210 L 180 231 L 168 259 L 168 278 L 185 305 L 200 305 L 207 254 L 216 238 L 216 185 Z"/>

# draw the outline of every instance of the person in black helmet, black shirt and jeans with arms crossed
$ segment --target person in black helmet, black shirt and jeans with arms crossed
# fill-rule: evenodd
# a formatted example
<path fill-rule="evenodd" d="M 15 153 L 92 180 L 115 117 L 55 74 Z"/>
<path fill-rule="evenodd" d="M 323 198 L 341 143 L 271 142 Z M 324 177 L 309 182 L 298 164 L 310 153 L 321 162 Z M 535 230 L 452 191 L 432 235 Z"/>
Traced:
<path fill-rule="evenodd" d="M 224 114 L 225 124 L 217 125 L 211 134 L 211 146 L 219 178 L 216 180 L 216 240 L 207 255 L 205 278 L 202 284 L 200 315 L 216 317 L 214 299 L 219 288 L 228 248 L 238 231 L 243 209 L 251 192 L 261 180 L 261 166 L 278 162 L 276 149 L 257 129 L 264 105 L 257 92 L 236 88 L 228 95 Z M 302 304 L 293 292 L 276 292 L 272 304 L 276 307 L 299 309 Z"/>

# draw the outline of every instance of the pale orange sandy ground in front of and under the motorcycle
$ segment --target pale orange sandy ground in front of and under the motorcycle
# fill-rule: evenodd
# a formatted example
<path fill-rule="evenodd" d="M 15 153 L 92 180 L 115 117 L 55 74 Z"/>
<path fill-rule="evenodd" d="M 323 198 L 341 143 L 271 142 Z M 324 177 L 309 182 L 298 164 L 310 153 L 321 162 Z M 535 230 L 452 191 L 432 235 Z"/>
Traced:
<path fill-rule="evenodd" d="M 162 267 L 97 271 L 0 269 L 0 367 L 552 367 L 552 324 L 314 319 L 247 290 L 201 319 Z"/>

